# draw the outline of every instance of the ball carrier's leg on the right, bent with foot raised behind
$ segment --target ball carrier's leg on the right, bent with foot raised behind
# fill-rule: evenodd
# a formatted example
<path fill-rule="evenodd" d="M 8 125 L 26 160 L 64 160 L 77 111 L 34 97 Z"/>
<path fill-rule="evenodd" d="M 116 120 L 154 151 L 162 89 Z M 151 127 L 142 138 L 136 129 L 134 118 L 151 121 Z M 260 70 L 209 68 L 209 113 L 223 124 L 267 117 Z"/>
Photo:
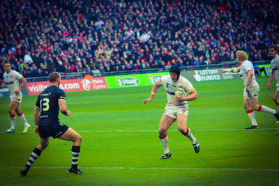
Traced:
<path fill-rule="evenodd" d="M 186 114 L 179 114 L 177 116 L 177 128 L 179 132 L 181 132 L 181 134 L 190 139 L 191 143 L 194 146 L 195 153 L 199 153 L 199 143 L 197 142 L 197 139 L 193 136 L 190 128 L 187 127 L 187 119 L 188 116 L 186 116 Z"/>

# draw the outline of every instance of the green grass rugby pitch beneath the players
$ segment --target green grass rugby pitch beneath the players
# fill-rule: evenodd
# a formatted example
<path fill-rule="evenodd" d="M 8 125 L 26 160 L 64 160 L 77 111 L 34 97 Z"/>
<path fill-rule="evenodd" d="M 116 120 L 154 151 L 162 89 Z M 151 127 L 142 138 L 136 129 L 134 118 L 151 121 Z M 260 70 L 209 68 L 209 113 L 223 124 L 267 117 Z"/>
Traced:
<path fill-rule="evenodd" d="M 267 77 L 259 104 L 276 108 Z M 20 175 L 33 148 L 33 105 L 36 95 L 24 96 L 22 111 L 32 125 L 22 133 L 17 116 L 15 134 L 10 127 L 8 98 L 0 98 L 0 185 L 274 185 L 279 180 L 279 129 L 271 114 L 255 111 L 259 129 L 244 130 L 250 120 L 243 109 L 241 79 L 193 82 L 198 100 L 189 102 L 188 127 L 199 140 L 194 152 L 190 140 L 176 129 L 167 132 L 172 157 L 159 160 L 163 147 L 158 125 L 166 104 L 160 88 L 153 101 L 143 104 L 151 86 L 66 93 L 73 116 L 60 115 L 61 123 L 82 135 L 79 158 L 82 175 L 68 173 L 71 141 L 50 138 L 50 146 Z"/>

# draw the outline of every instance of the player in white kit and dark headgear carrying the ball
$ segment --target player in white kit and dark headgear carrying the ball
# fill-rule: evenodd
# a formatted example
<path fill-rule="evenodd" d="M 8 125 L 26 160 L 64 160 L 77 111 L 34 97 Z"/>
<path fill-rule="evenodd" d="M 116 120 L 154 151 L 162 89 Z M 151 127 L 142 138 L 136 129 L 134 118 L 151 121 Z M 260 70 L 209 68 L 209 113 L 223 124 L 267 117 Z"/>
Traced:
<path fill-rule="evenodd" d="M 160 157 L 160 160 L 167 159 L 172 155 L 169 152 L 167 130 L 176 120 L 178 130 L 181 134 L 190 139 L 194 146 L 195 153 L 199 153 L 199 143 L 186 125 L 189 112 L 187 101 L 197 99 L 197 92 L 195 91 L 195 88 L 193 88 L 193 85 L 188 81 L 188 79 L 180 75 L 180 68 L 178 66 L 172 66 L 169 68 L 169 75 L 160 77 L 158 82 L 154 84 L 151 95 L 149 98 L 144 100 L 144 103 L 151 102 L 153 100 L 160 86 L 164 86 L 167 91 L 167 105 L 159 126 L 159 138 L 165 150 L 165 153 L 162 157 Z M 189 95 L 186 97 L 183 97 L 183 95 L 179 97 L 176 96 L 174 93 L 177 88 L 183 88 L 183 90 Z"/>

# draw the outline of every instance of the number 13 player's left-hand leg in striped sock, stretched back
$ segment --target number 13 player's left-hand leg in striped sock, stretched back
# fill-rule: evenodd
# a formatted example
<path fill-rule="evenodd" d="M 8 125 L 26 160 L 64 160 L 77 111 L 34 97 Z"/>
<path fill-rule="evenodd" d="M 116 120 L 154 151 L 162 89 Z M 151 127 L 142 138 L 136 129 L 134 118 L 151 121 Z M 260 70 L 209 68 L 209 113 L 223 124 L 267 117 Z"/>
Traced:
<path fill-rule="evenodd" d="M 40 156 L 43 150 L 47 148 L 47 146 L 50 144 L 50 139 L 47 138 L 40 138 L 40 144 L 34 148 L 33 152 L 31 153 L 29 160 L 27 164 L 22 168 L 22 171 L 20 171 L 20 174 L 22 176 L 26 176 L 27 172 L 29 171 L 31 165 L 33 162 Z"/>

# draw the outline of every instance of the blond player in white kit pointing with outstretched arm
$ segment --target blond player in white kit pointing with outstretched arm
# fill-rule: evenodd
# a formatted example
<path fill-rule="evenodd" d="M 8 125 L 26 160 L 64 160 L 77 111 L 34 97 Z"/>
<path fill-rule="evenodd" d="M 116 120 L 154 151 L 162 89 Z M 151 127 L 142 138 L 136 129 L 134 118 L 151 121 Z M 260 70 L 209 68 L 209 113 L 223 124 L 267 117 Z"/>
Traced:
<path fill-rule="evenodd" d="M 243 105 L 246 109 L 246 113 L 252 122 L 250 127 L 246 129 L 255 129 L 259 128 L 257 121 L 255 119 L 254 111 L 263 111 L 276 116 L 279 121 L 278 110 L 271 109 L 264 105 L 258 104 L 259 97 L 259 84 L 257 84 L 254 68 L 251 61 L 248 61 L 248 55 L 246 52 L 239 50 L 236 52 L 236 59 L 239 63 L 238 68 L 231 68 L 228 70 L 221 70 L 222 73 L 225 72 L 239 72 L 241 79 L 244 83 L 244 92 L 243 92 Z"/>

